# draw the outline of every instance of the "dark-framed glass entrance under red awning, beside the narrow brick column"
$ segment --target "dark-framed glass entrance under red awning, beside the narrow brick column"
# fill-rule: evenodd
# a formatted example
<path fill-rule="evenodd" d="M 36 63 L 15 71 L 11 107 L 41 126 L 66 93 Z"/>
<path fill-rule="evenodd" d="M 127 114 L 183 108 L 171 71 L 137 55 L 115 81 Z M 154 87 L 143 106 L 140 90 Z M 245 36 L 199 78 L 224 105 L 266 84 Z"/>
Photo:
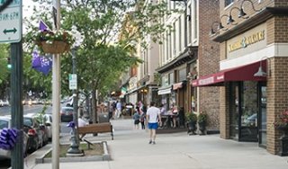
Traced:
<path fill-rule="evenodd" d="M 230 138 L 258 141 L 258 83 L 252 81 L 230 84 Z"/>

